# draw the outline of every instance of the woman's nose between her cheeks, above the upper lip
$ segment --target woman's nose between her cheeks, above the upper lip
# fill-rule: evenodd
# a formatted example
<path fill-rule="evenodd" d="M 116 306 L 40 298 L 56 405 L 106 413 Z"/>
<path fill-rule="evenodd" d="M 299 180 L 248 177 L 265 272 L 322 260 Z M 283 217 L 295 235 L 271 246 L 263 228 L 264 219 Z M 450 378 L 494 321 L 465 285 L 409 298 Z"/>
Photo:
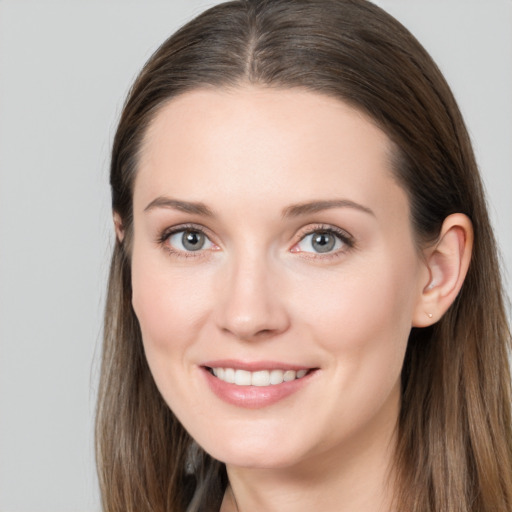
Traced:
<path fill-rule="evenodd" d="M 240 258 L 219 283 L 218 327 L 239 340 L 267 339 L 285 332 L 290 319 L 283 279 L 264 258 Z"/>

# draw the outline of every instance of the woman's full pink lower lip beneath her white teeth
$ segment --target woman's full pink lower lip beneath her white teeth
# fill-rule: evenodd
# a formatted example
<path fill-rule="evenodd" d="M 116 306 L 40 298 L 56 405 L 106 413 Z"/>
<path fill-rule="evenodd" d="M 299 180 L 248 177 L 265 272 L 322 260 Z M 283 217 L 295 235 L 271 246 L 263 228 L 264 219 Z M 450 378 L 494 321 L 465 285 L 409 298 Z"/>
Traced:
<path fill-rule="evenodd" d="M 312 378 L 310 371 L 300 379 L 271 386 L 237 386 L 218 379 L 207 368 L 202 368 L 210 389 L 224 402 L 246 409 L 268 407 L 299 391 Z"/>

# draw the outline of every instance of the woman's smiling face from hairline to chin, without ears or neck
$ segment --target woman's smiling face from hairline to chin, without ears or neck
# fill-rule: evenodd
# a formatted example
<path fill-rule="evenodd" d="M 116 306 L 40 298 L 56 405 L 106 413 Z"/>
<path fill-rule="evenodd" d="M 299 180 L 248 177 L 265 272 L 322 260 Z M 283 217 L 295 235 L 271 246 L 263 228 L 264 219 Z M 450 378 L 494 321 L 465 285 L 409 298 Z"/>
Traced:
<path fill-rule="evenodd" d="M 428 284 L 390 152 L 300 90 L 187 92 L 150 126 L 133 307 L 160 392 L 215 458 L 291 467 L 390 442 Z"/>

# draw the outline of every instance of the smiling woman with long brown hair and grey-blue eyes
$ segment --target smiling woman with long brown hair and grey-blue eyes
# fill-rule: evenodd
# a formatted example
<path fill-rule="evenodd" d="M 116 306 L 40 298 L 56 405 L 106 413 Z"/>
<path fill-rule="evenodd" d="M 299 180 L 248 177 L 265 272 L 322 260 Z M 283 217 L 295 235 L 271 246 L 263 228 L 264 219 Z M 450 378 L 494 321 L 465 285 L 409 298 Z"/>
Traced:
<path fill-rule="evenodd" d="M 205 12 L 114 140 L 105 510 L 512 507 L 510 333 L 460 112 L 362 0 Z"/>

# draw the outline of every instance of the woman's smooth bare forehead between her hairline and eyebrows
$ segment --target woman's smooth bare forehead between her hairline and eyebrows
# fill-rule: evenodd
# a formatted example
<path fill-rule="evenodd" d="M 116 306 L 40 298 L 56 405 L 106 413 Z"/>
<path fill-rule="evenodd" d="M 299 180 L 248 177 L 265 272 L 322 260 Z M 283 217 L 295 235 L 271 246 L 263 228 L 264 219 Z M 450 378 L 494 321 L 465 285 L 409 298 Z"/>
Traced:
<path fill-rule="evenodd" d="M 388 202 L 390 192 L 402 193 L 391 153 L 389 138 L 371 120 L 326 95 L 250 86 L 194 90 L 169 101 L 151 123 L 134 206 L 162 194 L 259 200 L 259 208 L 276 196 Z"/>

